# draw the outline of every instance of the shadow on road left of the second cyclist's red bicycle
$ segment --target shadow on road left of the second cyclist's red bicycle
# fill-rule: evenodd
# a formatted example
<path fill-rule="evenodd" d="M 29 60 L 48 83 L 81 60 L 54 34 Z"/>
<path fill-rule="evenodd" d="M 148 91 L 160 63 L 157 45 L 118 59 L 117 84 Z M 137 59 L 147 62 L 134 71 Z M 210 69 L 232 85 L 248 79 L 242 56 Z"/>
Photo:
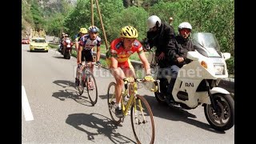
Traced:
<path fill-rule="evenodd" d="M 54 92 L 52 95 L 54 98 L 58 98 L 61 101 L 65 101 L 66 98 L 71 98 L 75 102 L 78 102 L 84 106 L 93 106 L 90 103 L 88 97 L 79 95 L 78 90 L 76 90 L 74 86 L 74 82 L 66 81 L 66 80 L 57 80 L 53 82 L 54 84 L 61 86 L 63 90 L 58 90 L 58 92 Z M 73 88 L 73 89 L 71 89 Z"/>

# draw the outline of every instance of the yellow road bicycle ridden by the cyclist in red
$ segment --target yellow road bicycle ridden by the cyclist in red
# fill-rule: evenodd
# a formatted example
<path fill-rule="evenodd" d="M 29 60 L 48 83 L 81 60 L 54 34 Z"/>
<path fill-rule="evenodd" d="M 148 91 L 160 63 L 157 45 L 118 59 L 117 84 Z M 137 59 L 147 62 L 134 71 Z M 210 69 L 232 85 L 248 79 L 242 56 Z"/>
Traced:
<path fill-rule="evenodd" d="M 107 105 L 109 107 L 110 116 L 114 124 L 124 122 L 124 118 L 130 114 L 131 126 L 134 137 L 138 143 L 154 143 L 154 118 L 149 103 L 144 97 L 138 94 L 138 83 L 146 82 L 144 79 L 135 79 L 134 82 L 127 82 L 126 78 L 125 90 L 122 90 L 122 118 L 115 116 L 115 82 L 110 82 L 107 90 Z M 152 92 L 158 90 L 159 80 L 153 80 L 155 86 L 150 89 Z M 129 100 L 127 99 L 129 98 Z M 125 99 L 125 100 L 124 100 Z"/>

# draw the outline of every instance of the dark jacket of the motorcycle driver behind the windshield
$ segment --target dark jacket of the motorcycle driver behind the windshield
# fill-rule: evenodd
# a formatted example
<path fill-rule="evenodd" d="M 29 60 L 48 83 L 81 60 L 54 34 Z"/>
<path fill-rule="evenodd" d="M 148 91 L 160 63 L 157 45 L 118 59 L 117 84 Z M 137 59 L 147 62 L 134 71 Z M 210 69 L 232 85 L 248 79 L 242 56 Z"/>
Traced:
<path fill-rule="evenodd" d="M 170 63 L 173 65 L 177 65 L 179 67 L 187 64 L 190 62 L 190 59 L 186 58 L 186 54 L 188 51 L 194 51 L 194 45 L 190 38 L 182 38 L 182 36 L 177 35 L 175 37 L 175 48 L 169 51 L 170 55 Z M 177 58 L 182 57 L 184 58 L 184 62 L 179 63 Z"/>

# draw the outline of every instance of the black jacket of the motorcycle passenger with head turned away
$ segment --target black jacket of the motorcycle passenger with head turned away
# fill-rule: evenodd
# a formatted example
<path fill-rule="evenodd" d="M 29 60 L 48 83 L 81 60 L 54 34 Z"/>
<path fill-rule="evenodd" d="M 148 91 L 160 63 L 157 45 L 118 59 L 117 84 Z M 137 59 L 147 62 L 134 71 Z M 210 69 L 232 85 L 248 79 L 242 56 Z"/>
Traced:
<path fill-rule="evenodd" d="M 146 37 L 150 47 L 156 46 L 156 54 L 168 54 L 168 51 L 175 47 L 174 27 L 170 24 L 162 23 L 157 31 L 148 31 Z"/>

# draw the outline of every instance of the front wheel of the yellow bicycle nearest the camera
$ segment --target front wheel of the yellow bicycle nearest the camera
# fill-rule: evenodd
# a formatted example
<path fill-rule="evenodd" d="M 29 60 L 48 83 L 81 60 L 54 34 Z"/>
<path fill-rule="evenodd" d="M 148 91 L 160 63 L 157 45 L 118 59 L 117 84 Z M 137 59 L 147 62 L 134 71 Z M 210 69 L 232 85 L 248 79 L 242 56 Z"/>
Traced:
<path fill-rule="evenodd" d="M 154 118 L 146 99 L 140 95 L 131 106 L 131 125 L 138 143 L 154 143 Z"/>

